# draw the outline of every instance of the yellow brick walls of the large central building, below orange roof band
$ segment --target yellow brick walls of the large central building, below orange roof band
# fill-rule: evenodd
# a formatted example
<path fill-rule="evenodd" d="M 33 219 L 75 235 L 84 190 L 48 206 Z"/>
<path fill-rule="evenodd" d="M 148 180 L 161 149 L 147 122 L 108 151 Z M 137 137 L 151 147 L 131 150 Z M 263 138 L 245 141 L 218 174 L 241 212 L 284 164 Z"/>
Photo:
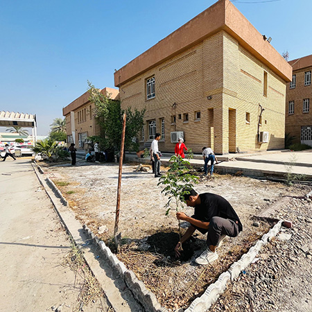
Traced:
<path fill-rule="evenodd" d="M 268 73 L 267 96 L 263 96 L 263 71 Z M 146 79 L 152 76 L 155 98 L 146 100 Z M 148 121 L 156 119 L 156 131 L 161 132 L 159 119 L 164 118 L 160 150 L 172 152 L 170 132 L 184 131 L 185 144 L 194 152 L 211 146 L 218 154 L 233 153 L 236 147 L 241 151 L 284 148 L 284 95 L 284 82 L 223 31 L 133 78 L 120 91 L 123 108 L 146 109 L 145 141 Z M 259 103 L 265 108 L 260 131 L 270 132 L 268 144 L 257 142 Z M 196 111 L 200 121 L 194 120 Z M 245 122 L 246 112 L 250 124 Z M 185 113 L 188 123 L 183 122 Z M 176 116 L 175 125 L 171 115 Z"/>

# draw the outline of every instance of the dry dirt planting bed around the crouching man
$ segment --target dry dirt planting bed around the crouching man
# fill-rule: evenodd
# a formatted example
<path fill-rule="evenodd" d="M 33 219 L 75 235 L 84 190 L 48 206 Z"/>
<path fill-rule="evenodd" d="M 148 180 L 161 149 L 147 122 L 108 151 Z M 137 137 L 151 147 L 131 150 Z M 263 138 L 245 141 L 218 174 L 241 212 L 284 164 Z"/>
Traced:
<path fill-rule="evenodd" d="M 41 166 L 44 166 L 41 164 Z M 167 198 L 157 185 L 159 179 L 149 172 L 135 172 L 137 164 L 123 166 L 119 231 L 121 251 L 117 257 L 155 293 L 169 311 L 187 306 L 201 295 L 209 284 L 238 260 L 259 237 L 272 227 L 272 220 L 259 220 L 263 211 L 291 194 L 304 196 L 307 187 L 249 177 L 215 175 L 200 178 L 198 193 L 217 193 L 234 207 L 243 223 L 243 232 L 227 238 L 218 248 L 219 258 L 211 266 L 198 266 L 194 259 L 205 250 L 206 237 L 193 235 L 190 246 L 184 246 L 185 258 L 175 259 L 173 248 L 179 236 L 175 210 L 165 215 Z M 78 166 L 45 166 L 44 171 L 58 185 L 81 223 L 86 223 L 107 245 L 111 245 L 116 211 L 118 164 L 85 164 Z M 166 168 L 162 168 L 166 171 Z M 184 207 L 193 214 L 193 208 Z M 182 223 L 182 227 L 187 224 Z M 186 229 L 182 229 L 182 234 Z"/>

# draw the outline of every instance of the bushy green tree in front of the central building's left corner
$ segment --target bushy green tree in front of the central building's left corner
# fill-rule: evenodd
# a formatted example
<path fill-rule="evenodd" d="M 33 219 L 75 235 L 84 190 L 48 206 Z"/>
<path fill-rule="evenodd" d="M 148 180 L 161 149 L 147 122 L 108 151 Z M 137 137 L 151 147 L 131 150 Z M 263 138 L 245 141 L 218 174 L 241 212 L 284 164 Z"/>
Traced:
<path fill-rule="evenodd" d="M 101 128 L 101 148 L 109 150 L 119 150 L 121 146 L 121 132 L 123 123 L 123 113 L 127 114 L 125 123 L 125 150 L 137 150 L 139 143 L 139 131 L 144 125 L 145 110 L 121 110 L 121 103 L 112 100 L 110 94 L 102 94 L 100 89 L 96 89 L 92 83 L 89 85 L 89 100 L 95 105 L 94 114 Z M 92 141 L 94 141 L 92 139 Z"/>

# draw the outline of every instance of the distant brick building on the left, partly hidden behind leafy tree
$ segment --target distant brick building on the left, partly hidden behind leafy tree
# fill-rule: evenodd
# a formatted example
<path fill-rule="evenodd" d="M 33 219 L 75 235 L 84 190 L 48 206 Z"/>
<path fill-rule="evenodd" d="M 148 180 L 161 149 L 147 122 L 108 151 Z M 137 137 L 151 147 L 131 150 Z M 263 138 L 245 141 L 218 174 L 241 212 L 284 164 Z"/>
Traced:
<path fill-rule="evenodd" d="M 101 93 L 113 100 L 119 99 L 118 89 L 104 88 Z M 94 118 L 94 103 L 89 101 L 89 92 L 85 92 L 75 101 L 63 108 L 66 118 L 67 143 L 75 143 L 76 148 L 87 148 L 87 137 L 100 134 L 100 128 Z"/>

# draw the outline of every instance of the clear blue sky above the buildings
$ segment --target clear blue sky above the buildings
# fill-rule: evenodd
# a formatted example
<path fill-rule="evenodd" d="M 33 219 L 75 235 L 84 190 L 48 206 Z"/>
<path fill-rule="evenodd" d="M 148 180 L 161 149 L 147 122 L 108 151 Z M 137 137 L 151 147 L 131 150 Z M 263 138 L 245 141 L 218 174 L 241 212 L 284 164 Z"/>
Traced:
<path fill-rule="evenodd" d="M 87 80 L 114 87 L 114 69 L 215 2 L 0 0 L 0 111 L 37 114 L 47 135 Z M 232 2 L 279 53 L 312 54 L 311 0 Z"/>

